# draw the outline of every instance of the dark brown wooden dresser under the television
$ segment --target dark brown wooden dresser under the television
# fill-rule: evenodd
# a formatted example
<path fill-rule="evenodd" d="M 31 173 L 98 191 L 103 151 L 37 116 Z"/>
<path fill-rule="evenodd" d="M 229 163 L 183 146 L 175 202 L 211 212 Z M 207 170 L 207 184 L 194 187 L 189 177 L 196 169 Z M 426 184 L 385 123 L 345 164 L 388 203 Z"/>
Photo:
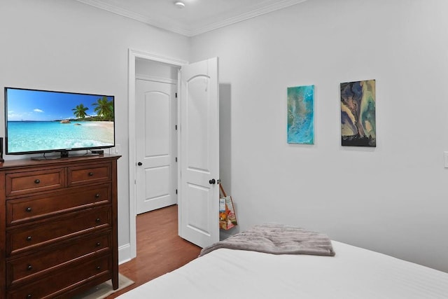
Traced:
<path fill-rule="evenodd" d="M 0 298 L 118 288 L 117 160 L 0 162 Z"/>

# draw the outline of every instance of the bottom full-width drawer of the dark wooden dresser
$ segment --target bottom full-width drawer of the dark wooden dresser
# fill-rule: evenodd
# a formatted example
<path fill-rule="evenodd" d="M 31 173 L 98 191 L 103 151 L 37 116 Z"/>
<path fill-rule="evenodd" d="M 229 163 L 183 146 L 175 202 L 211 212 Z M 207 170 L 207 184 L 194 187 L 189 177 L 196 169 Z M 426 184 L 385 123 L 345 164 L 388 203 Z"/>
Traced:
<path fill-rule="evenodd" d="M 63 295 L 69 287 L 80 286 L 96 277 L 111 277 L 111 256 L 103 256 L 80 263 L 76 267 L 64 267 L 60 272 L 33 281 L 22 288 L 10 288 L 8 299 L 55 298 Z M 104 281 L 106 281 L 104 279 Z M 62 296 L 61 298 L 67 298 Z"/>

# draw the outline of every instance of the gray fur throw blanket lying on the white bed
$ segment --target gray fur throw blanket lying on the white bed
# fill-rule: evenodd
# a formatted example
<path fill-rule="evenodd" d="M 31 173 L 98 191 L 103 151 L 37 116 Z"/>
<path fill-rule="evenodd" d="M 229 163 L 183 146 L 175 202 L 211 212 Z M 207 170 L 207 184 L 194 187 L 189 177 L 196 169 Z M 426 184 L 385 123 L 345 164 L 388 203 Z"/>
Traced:
<path fill-rule="evenodd" d="M 201 250 L 200 256 L 220 248 L 273 254 L 335 256 L 331 240 L 327 235 L 273 223 L 255 225 L 244 232 L 207 246 Z"/>

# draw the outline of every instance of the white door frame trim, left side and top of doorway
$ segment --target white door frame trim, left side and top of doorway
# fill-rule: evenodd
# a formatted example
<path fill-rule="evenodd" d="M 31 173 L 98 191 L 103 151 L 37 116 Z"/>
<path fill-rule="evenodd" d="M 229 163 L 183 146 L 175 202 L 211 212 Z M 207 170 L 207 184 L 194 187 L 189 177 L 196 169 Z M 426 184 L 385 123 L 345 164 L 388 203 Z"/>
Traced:
<path fill-rule="evenodd" d="M 136 172 L 136 157 L 135 157 L 135 60 L 136 58 L 141 58 L 144 60 L 152 60 L 155 62 L 164 62 L 167 64 L 172 64 L 176 67 L 181 67 L 188 62 L 184 60 L 177 60 L 169 57 L 162 57 L 160 55 L 154 55 L 152 53 L 146 53 L 144 51 L 135 50 L 130 48 L 128 53 L 128 90 L 127 90 L 127 101 L 128 101 L 128 125 L 129 125 L 129 211 L 130 211 L 130 256 L 129 259 L 135 258 L 137 256 L 137 189 L 135 185 L 135 172 Z M 179 88 L 179 87 L 178 87 Z M 179 146 L 179 144 L 178 144 Z"/>

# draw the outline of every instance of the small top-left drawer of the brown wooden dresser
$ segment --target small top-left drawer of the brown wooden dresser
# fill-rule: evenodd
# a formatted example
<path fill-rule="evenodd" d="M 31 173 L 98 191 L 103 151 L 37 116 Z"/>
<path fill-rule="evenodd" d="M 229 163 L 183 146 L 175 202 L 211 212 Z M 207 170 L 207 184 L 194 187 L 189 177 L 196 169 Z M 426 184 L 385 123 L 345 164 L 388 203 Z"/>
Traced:
<path fill-rule="evenodd" d="M 64 178 L 63 168 L 6 174 L 6 196 L 63 188 Z"/>

